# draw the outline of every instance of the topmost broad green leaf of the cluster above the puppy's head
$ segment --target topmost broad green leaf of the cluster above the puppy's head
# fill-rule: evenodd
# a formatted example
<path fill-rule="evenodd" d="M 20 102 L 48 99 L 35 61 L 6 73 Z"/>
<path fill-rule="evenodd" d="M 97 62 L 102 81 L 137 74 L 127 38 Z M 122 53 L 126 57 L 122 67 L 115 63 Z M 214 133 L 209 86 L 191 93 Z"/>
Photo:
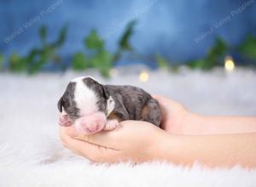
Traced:
<path fill-rule="evenodd" d="M 85 38 L 84 46 L 90 49 L 102 50 L 104 48 L 104 41 L 99 37 L 96 30 L 92 30 L 90 35 Z"/>

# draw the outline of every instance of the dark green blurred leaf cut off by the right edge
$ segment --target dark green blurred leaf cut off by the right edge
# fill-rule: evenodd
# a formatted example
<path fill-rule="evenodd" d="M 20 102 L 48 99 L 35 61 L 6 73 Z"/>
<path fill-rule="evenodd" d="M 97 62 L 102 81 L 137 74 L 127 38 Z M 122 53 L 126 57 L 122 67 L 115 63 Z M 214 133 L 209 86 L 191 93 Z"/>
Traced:
<path fill-rule="evenodd" d="M 248 35 L 247 39 L 241 43 L 238 48 L 241 54 L 244 54 L 249 59 L 256 59 L 256 37 Z"/>

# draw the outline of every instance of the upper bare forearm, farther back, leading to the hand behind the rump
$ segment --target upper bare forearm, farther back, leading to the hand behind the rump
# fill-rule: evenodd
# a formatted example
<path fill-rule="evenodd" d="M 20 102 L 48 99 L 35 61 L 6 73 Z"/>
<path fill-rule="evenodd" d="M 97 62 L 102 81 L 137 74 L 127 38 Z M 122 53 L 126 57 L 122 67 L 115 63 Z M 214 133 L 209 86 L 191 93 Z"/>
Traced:
<path fill-rule="evenodd" d="M 256 133 L 255 116 L 203 116 L 190 113 L 182 122 L 182 133 L 190 135 Z"/>

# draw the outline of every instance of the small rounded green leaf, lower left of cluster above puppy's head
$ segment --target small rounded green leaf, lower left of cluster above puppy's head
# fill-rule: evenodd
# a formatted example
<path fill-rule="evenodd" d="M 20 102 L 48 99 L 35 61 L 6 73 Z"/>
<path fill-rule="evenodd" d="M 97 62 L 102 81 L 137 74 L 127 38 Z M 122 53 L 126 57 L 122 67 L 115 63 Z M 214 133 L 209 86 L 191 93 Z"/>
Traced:
<path fill-rule="evenodd" d="M 72 61 L 73 70 L 75 71 L 81 71 L 85 70 L 89 67 L 86 56 L 82 52 L 79 52 L 77 54 L 73 55 L 73 61 Z"/>

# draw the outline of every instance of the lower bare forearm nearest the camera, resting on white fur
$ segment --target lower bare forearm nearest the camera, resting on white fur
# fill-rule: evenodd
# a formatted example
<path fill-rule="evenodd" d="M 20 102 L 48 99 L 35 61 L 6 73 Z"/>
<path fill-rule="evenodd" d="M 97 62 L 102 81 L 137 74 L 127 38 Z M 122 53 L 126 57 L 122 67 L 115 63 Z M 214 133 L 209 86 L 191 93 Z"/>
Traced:
<path fill-rule="evenodd" d="M 156 150 L 156 159 L 208 167 L 256 167 L 256 133 L 184 136 L 164 134 Z"/>

